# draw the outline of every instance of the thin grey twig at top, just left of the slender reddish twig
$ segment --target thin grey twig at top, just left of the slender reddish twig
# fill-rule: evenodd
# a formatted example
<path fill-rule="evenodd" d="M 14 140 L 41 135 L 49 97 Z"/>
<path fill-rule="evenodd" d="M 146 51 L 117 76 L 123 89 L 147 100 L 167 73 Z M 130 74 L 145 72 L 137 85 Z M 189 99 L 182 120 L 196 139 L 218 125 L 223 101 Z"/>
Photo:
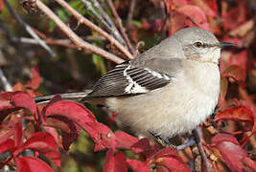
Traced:
<path fill-rule="evenodd" d="M 125 40 L 121 36 L 121 34 L 118 32 L 114 22 L 111 20 L 111 18 L 108 16 L 107 13 L 103 10 L 102 6 L 97 0 L 92 0 L 92 3 L 94 6 L 102 13 L 103 17 L 105 18 L 105 21 L 111 26 L 111 33 L 114 35 L 114 37 L 122 44 L 125 44 Z"/>

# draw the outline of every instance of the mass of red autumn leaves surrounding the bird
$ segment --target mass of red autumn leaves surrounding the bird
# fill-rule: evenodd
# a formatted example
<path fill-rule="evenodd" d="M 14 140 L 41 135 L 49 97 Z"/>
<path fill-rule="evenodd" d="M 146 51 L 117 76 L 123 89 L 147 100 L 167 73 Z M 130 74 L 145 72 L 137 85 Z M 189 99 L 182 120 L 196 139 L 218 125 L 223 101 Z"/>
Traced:
<path fill-rule="evenodd" d="M 252 21 L 252 18 L 249 18 L 245 1 L 236 1 L 237 4 L 230 8 L 225 8 L 227 2 L 223 1 L 221 12 L 218 11 L 215 0 L 162 0 L 162 2 L 167 10 L 166 20 L 170 17 L 170 22 L 156 18 L 151 21 L 144 20 L 141 27 L 132 25 L 130 28 L 133 40 L 137 40 L 139 30 L 150 32 L 166 30 L 172 35 L 184 27 L 200 27 L 215 32 L 222 41 L 230 41 L 243 48 L 222 54 L 219 102 L 221 110 L 216 118 L 210 121 L 240 122 L 241 131 L 235 132 L 242 134 L 243 139 L 235 138 L 231 135 L 232 132 L 221 134 L 221 131 L 215 128 L 217 131 L 209 136 L 210 141 L 205 143 L 205 147 L 209 149 L 210 157 L 214 155 L 218 158 L 217 161 L 220 159 L 225 163 L 225 165 L 220 163 L 215 165 L 215 170 L 256 171 L 255 161 L 251 160 L 243 149 L 244 144 L 256 131 L 256 107 L 252 103 L 255 97 L 244 93 L 247 72 L 256 64 L 244 49 L 248 42 L 244 37 L 253 30 L 246 22 Z M 0 11 L 2 4 L 1 1 Z M 161 148 L 148 139 L 137 140 L 125 132 L 113 132 L 108 126 L 98 122 L 94 115 L 78 102 L 61 100 L 60 96 L 56 96 L 45 106 L 36 106 L 33 97 L 40 95 L 35 92 L 40 84 L 40 75 L 37 67 L 33 68 L 31 73 L 33 77 L 27 84 L 18 82 L 13 86 L 14 92 L 0 94 L 0 154 L 7 155 L 6 159 L 0 162 L 0 168 L 10 164 L 15 165 L 17 171 L 53 171 L 49 164 L 38 158 L 38 154 L 60 166 L 58 148 L 68 151 L 70 144 L 77 139 L 82 129 L 95 142 L 94 151 L 106 149 L 105 172 L 128 171 L 128 167 L 139 172 L 149 172 L 152 169 L 160 172 L 191 171 L 175 148 Z M 239 94 L 236 97 L 244 99 L 243 103 L 234 100 L 234 93 L 229 91 L 234 83 L 237 84 L 235 91 Z M 230 102 L 235 102 L 235 106 L 233 103 L 230 107 Z M 18 118 L 17 114 L 21 117 Z M 25 135 L 22 127 L 21 121 L 24 118 L 35 129 L 30 131 L 28 136 Z M 249 124 L 250 128 L 242 122 Z M 61 136 L 58 135 L 57 130 L 60 131 Z M 247 131 L 250 132 L 249 137 L 244 134 Z M 33 151 L 34 157 L 20 157 L 27 149 Z M 120 149 L 133 151 L 137 159 L 127 159 Z M 209 161 L 212 164 L 216 162 L 212 159 Z"/>

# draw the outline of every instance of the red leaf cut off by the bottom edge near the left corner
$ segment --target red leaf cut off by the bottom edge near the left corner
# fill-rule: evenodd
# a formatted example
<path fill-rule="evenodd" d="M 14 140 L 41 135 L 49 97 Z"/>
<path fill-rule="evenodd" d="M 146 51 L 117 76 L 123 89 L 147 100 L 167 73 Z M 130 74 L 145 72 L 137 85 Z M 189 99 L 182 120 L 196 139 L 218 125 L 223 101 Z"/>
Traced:
<path fill-rule="evenodd" d="M 44 161 L 34 157 L 16 158 L 17 172 L 54 172 L 54 170 Z"/>

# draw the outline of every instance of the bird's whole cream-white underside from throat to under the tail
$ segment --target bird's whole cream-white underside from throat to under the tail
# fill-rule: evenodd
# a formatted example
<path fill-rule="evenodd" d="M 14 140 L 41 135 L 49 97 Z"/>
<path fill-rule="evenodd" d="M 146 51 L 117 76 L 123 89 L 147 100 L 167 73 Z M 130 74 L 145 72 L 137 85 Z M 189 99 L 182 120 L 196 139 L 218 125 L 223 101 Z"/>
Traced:
<path fill-rule="evenodd" d="M 163 137 L 194 129 L 214 112 L 220 93 L 219 67 L 190 62 L 168 86 L 135 97 L 111 97 L 105 103 L 137 133 Z"/>

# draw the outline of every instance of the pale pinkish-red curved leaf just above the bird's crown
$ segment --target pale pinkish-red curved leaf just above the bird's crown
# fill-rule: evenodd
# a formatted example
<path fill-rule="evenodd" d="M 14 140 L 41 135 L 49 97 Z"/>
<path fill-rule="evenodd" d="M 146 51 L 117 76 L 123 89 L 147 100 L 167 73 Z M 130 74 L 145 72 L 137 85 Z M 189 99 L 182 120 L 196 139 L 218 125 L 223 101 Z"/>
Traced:
<path fill-rule="evenodd" d="M 198 25 L 198 27 L 210 31 L 205 13 L 201 11 L 197 6 L 186 5 L 177 9 L 176 11 L 188 16 L 193 21 L 193 23 Z M 193 23 L 189 22 L 188 25 L 194 26 Z"/>

